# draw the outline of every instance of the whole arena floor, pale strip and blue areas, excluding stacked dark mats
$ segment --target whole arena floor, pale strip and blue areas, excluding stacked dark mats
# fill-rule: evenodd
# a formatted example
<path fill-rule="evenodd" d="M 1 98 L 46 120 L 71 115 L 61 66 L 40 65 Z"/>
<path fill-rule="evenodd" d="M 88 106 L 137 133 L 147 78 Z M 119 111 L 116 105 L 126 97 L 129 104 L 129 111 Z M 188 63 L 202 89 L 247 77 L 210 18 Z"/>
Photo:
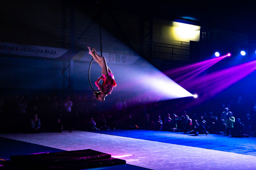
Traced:
<path fill-rule="evenodd" d="M 0 134 L 0 166 L 11 155 L 93 149 L 127 162 L 94 169 L 256 169 L 255 141 L 149 130 Z"/>

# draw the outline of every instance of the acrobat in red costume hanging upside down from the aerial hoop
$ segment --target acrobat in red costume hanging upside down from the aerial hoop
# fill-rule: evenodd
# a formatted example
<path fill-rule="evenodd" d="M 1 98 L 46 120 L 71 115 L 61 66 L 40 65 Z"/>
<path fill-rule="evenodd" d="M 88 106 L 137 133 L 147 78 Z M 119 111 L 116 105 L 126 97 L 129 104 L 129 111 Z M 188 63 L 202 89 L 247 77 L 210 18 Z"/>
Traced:
<path fill-rule="evenodd" d="M 105 100 L 105 96 L 111 94 L 113 87 L 116 87 L 117 84 L 114 80 L 114 75 L 112 71 L 108 68 L 106 60 L 104 57 L 98 55 L 95 49 L 89 48 L 89 54 L 93 56 L 94 60 L 101 66 L 101 74 L 102 76 L 96 80 L 95 84 L 99 88 L 100 92 L 94 92 L 96 99 L 103 102 Z M 103 80 L 103 84 L 99 84 L 100 80 Z"/>

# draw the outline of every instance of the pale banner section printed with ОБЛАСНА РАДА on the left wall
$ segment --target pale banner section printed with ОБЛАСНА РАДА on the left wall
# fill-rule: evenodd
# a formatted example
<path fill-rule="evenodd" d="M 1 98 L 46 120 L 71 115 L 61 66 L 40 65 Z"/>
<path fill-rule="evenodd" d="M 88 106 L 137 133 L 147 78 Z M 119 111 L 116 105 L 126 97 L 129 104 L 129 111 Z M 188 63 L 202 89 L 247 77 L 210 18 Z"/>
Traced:
<path fill-rule="evenodd" d="M 65 54 L 68 50 L 62 48 L 41 47 L 41 46 L 26 46 L 14 43 L 1 43 L 1 54 L 12 54 L 22 56 L 35 56 L 35 57 L 47 57 L 58 58 Z"/>

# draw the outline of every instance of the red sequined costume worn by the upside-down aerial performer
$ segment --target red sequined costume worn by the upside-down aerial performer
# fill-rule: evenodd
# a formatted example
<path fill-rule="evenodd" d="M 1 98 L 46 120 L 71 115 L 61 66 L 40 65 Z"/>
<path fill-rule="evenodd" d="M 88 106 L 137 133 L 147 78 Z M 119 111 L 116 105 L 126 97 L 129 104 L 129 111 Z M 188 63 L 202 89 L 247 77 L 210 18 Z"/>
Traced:
<path fill-rule="evenodd" d="M 106 75 L 102 75 L 105 78 L 104 83 L 101 85 L 99 84 L 99 81 L 101 80 L 101 78 L 98 78 L 98 80 L 96 80 L 95 84 L 96 86 L 99 88 L 99 90 L 103 93 L 103 94 L 111 94 L 111 91 L 113 90 L 113 87 L 116 87 L 116 81 L 114 80 L 114 75 L 112 74 L 112 72 L 108 69 L 108 74 Z"/>

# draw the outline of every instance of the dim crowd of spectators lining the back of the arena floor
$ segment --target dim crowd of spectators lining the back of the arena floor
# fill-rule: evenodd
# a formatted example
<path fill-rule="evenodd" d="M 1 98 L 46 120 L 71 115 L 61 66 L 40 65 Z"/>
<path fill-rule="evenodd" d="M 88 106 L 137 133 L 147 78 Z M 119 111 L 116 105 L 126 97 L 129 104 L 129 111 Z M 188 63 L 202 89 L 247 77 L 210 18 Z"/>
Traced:
<path fill-rule="evenodd" d="M 180 103 L 151 102 L 148 99 L 128 96 L 117 98 L 111 109 L 99 108 L 94 95 L 65 96 L 35 95 L 32 101 L 27 96 L 7 95 L 0 98 L 1 133 L 40 133 L 62 132 L 63 130 L 115 130 L 148 129 L 183 133 L 219 134 L 232 137 L 249 137 L 256 127 L 256 101 L 251 113 L 241 109 L 241 97 L 236 107 L 231 104 L 221 111 L 202 114 L 194 113 L 191 108 L 178 111 Z M 182 108 L 181 108 L 182 109 Z M 231 109 L 234 109 L 232 111 Z M 232 112 L 231 112 L 232 111 Z M 234 114 L 235 113 L 235 114 Z M 163 119 L 162 119 L 163 118 Z M 253 119 L 251 121 L 251 119 Z"/>

